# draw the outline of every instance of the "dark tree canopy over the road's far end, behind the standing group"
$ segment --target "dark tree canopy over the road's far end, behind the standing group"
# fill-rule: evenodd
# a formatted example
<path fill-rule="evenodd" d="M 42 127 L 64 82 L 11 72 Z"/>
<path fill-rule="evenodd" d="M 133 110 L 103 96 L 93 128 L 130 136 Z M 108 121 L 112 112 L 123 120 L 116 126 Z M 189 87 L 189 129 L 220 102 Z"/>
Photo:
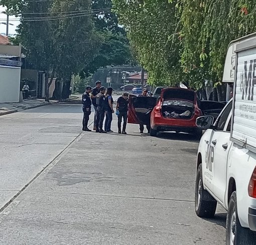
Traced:
<path fill-rule="evenodd" d="M 103 42 L 93 61 L 88 63 L 80 73 L 82 77 L 90 76 L 100 67 L 133 62 L 126 32 L 118 24 L 117 16 L 111 11 L 111 8 L 111 0 L 92 1 L 92 10 L 100 10 L 100 15 L 95 15 L 93 20 Z"/>

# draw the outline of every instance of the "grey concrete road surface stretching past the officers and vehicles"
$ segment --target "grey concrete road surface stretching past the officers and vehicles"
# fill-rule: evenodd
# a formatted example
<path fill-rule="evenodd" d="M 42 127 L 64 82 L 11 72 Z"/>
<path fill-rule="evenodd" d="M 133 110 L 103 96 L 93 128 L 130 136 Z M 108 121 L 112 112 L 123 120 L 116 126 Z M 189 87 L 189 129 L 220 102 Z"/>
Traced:
<path fill-rule="evenodd" d="M 1 245 L 225 243 L 222 209 L 211 220 L 194 213 L 197 142 L 137 125 L 81 133 L 80 112 L 51 105 L 0 118 L 1 206 L 17 195 L 0 213 Z"/>

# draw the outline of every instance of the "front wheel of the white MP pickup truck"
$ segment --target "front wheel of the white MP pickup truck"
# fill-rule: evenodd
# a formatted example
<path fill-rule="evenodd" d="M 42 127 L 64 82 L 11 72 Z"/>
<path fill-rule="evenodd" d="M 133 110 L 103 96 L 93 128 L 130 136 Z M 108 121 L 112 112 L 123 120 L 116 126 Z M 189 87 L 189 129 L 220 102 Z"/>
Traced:
<path fill-rule="evenodd" d="M 216 211 L 217 201 L 203 187 L 202 164 L 198 166 L 195 187 L 195 211 L 197 216 L 210 218 Z"/>

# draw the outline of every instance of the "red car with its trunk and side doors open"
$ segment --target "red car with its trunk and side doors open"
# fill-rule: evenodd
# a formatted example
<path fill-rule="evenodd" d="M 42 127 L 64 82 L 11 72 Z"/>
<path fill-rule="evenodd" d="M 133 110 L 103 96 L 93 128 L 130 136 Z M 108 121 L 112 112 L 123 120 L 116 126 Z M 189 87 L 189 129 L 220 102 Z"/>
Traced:
<path fill-rule="evenodd" d="M 129 102 L 129 123 L 151 125 L 151 136 L 158 132 L 186 132 L 200 137 L 202 130 L 196 127 L 196 118 L 220 113 L 224 103 L 200 101 L 193 90 L 165 88 L 161 97 L 131 96 Z"/>

